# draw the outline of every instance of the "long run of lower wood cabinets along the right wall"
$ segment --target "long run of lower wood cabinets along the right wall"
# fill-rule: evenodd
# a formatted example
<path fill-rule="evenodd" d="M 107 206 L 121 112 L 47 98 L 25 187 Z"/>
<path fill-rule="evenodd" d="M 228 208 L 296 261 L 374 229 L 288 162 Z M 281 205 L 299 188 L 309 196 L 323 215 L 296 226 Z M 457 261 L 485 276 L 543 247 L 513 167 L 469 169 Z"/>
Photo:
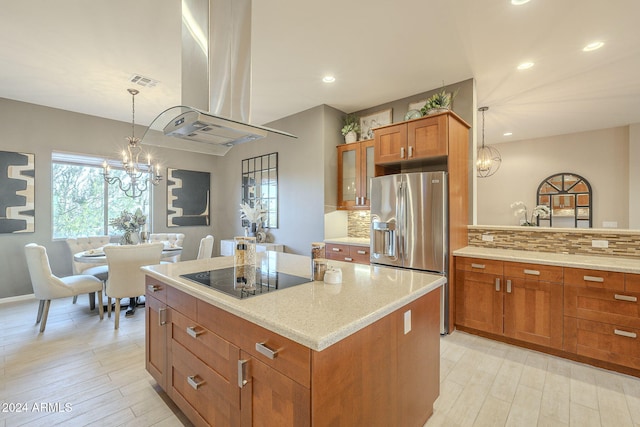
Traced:
<path fill-rule="evenodd" d="M 640 376 L 640 274 L 468 257 L 455 268 L 461 329 Z"/>

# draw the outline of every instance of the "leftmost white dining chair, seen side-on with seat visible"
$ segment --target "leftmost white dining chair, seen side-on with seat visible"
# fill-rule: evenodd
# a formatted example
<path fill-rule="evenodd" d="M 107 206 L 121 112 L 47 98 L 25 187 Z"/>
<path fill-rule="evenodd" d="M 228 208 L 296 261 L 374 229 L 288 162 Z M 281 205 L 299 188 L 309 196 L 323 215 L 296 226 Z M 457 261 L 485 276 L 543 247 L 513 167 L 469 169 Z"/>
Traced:
<path fill-rule="evenodd" d="M 44 246 L 29 243 L 24 249 L 33 293 L 40 300 L 36 318 L 36 324 L 40 323 L 40 332 L 44 332 L 44 328 L 47 326 L 49 306 L 52 299 L 90 294 L 90 301 L 93 301 L 94 297 L 91 294 L 97 293 L 98 311 L 100 319 L 103 318 L 102 281 L 100 279 L 86 274 L 57 277 L 51 272 L 49 257 Z"/>

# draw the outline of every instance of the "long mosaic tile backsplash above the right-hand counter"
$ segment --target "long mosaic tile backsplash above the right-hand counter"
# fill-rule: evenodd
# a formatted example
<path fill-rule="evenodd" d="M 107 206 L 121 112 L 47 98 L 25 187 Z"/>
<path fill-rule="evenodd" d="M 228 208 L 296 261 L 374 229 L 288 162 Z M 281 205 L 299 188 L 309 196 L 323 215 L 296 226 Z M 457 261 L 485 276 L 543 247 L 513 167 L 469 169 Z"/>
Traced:
<path fill-rule="evenodd" d="M 578 255 L 622 256 L 640 260 L 640 231 L 468 226 L 469 246 Z M 594 247 L 606 242 L 608 247 Z"/>

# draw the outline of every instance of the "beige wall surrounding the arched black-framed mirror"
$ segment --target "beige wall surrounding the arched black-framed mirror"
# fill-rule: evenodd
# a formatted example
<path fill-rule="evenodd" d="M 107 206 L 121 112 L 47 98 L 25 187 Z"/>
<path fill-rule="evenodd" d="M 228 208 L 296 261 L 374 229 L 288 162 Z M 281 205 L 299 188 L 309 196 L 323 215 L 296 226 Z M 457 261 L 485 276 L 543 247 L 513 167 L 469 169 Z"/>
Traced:
<path fill-rule="evenodd" d="M 495 147 L 502 155 L 502 165 L 495 175 L 478 179 L 478 224 L 519 225 L 510 204 L 523 201 L 531 212 L 542 180 L 572 172 L 591 184 L 594 228 L 601 228 L 603 221 L 615 221 L 618 228 L 629 227 L 629 182 L 637 183 L 629 180 L 629 127 Z"/>

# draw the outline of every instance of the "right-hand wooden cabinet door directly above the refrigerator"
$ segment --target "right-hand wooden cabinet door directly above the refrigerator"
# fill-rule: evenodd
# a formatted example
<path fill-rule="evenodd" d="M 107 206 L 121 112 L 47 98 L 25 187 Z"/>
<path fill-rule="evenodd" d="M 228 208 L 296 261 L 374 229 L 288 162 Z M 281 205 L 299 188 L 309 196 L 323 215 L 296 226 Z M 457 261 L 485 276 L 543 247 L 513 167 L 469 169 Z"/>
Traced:
<path fill-rule="evenodd" d="M 407 159 L 446 156 L 447 134 L 445 114 L 407 123 Z"/>

